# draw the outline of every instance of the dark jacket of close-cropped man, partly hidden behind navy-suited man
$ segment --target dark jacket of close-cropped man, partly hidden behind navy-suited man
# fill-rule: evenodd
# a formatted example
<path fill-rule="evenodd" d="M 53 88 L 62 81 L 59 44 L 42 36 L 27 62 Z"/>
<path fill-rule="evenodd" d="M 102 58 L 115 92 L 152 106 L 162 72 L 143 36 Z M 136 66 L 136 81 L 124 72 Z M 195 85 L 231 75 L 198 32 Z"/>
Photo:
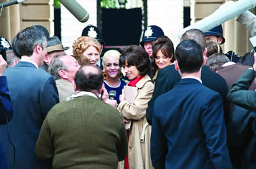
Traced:
<path fill-rule="evenodd" d="M 225 119 L 227 119 L 229 103 L 227 101 L 228 87 L 225 79 L 214 71 L 209 70 L 209 68 L 207 68 L 206 66 L 202 67 L 201 79 L 206 87 L 209 87 L 209 89 L 212 89 L 212 91 L 216 91 L 221 94 L 223 98 Z M 159 70 L 156 78 L 156 85 L 153 96 L 150 101 L 148 101 L 148 108 L 146 114 L 148 124 L 152 125 L 152 114 L 154 111 L 155 99 L 161 94 L 170 91 L 173 87 L 175 87 L 175 85 L 179 84 L 179 82 L 180 75 L 179 72 L 175 70 L 174 64 L 166 66 L 162 70 Z"/>

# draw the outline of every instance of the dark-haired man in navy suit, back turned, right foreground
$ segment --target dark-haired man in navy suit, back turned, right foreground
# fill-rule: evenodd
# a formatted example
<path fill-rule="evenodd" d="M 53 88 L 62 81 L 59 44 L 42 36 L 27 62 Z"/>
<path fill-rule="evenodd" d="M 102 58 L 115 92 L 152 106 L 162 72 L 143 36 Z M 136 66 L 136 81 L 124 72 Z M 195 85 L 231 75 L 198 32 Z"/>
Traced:
<path fill-rule="evenodd" d="M 150 142 L 154 168 L 231 169 L 222 98 L 202 85 L 200 45 L 182 41 L 175 59 L 182 79 L 154 103 Z"/>

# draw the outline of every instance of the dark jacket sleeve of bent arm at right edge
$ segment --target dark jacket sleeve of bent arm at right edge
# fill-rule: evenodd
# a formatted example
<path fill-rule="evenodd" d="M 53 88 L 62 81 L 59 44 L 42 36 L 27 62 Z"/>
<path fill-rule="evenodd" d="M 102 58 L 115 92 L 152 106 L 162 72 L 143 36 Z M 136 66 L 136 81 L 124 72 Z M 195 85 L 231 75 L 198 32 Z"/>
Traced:
<path fill-rule="evenodd" d="M 256 91 L 248 91 L 255 75 L 255 71 L 246 70 L 236 83 L 232 85 L 228 93 L 228 101 L 256 112 Z"/>

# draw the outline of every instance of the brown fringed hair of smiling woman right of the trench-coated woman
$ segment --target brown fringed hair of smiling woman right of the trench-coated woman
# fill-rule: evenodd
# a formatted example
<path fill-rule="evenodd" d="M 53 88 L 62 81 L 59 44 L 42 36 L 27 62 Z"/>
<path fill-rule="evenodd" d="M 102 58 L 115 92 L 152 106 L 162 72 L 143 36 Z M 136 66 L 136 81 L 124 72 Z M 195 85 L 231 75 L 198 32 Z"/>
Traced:
<path fill-rule="evenodd" d="M 161 50 L 162 54 L 164 54 L 166 57 L 172 58 L 170 62 L 174 62 L 174 47 L 172 40 L 168 38 L 167 36 L 159 36 L 156 38 L 156 40 L 152 43 L 152 50 L 153 50 L 153 61 L 151 62 L 151 70 L 152 70 L 152 77 L 156 74 L 156 71 L 158 70 L 158 67 L 155 62 L 156 53 Z"/>

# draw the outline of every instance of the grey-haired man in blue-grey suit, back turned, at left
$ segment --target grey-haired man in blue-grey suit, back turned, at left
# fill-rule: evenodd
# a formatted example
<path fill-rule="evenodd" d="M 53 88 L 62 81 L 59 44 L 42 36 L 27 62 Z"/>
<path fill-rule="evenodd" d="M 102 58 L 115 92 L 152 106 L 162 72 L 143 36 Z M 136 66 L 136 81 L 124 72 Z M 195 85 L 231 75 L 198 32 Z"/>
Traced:
<path fill-rule="evenodd" d="M 42 163 L 35 156 L 35 143 L 47 112 L 59 102 L 54 77 L 38 70 L 47 55 L 47 37 L 33 27 L 17 34 L 17 47 L 21 60 L 4 71 L 7 78 L 13 107 L 13 119 L 9 123 L 10 139 L 15 145 L 15 154 L 8 140 L 6 126 L 1 126 L 1 143 L 8 168 L 51 168 L 51 163 Z M 15 160 L 14 160 L 15 158 Z"/>

